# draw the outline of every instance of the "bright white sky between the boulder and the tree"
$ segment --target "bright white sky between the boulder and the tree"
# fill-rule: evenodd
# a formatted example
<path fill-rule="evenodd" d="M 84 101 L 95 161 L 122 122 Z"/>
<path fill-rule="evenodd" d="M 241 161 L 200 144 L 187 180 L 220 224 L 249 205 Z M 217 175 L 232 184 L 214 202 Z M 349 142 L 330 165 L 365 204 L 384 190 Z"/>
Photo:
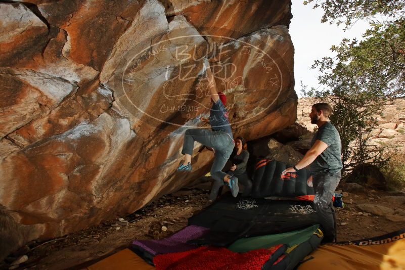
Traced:
<path fill-rule="evenodd" d="M 295 48 L 294 76 L 295 92 L 300 97 L 302 80 L 304 85 L 318 87 L 318 70 L 310 69 L 313 62 L 325 56 L 334 56 L 330 51 L 332 45 L 338 45 L 344 38 L 362 38 L 368 28 L 366 21 L 357 21 L 353 27 L 344 31 L 343 25 L 321 23 L 323 9 L 313 10 L 312 4 L 304 6 L 303 0 L 292 0 L 293 18 L 290 35 Z"/>

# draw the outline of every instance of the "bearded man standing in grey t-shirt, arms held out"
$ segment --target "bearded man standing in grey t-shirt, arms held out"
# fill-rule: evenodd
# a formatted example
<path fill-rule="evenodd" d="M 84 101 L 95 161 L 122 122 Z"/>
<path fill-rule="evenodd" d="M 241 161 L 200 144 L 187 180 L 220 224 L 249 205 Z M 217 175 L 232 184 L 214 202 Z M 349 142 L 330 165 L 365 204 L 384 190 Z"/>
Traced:
<path fill-rule="evenodd" d="M 326 242 L 336 240 L 332 197 L 342 177 L 340 171 L 343 168 L 340 136 L 336 127 L 329 122 L 331 112 L 332 107 L 328 103 L 312 105 L 309 117 L 312 124 L 318 125 L 318 131 L 312 139 L 311 148 L 295 166 L 285 169 L 282 173 L 284 175 L 310 165 L 312 179 L 308 179 L 308 185 L 313 185 L 313 205 Z"/>

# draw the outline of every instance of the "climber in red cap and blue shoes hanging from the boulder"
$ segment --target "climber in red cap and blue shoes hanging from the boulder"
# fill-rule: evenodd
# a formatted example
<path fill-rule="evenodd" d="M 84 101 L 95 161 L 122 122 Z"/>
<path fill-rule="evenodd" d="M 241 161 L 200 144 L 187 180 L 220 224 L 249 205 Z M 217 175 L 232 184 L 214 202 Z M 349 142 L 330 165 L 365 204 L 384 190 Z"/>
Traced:
<path fill-rule="evenodd" d="M 205 64 L 204 67 L 206 67 Z M 228 111 L 225 108 L 227 97 L 221 92 L 216 92 L 214 76 L 209 67 L 206 68 L 206 74 L 209 94 L 211 96 L 210 103 L 212 106 L 209 118 L 202 117 L 201 121 L 209 123 L 212 130 L 206 128 L 191 128 L 186 130 L 182 150 L 185 159 L 179 164 L 177 170 L 192 170 L 191 155 L 193 154 L 195 141 L 212 148 L 215 155 L 211 167 L 211 176 L 214 178 L 214 185 L 209 194 L 209 202 L 212 202 L 218 196 L 219 188 L 222 187 L 223 182 L 228 183 L 234 197 L 238 195 L 239 188 L 238 178 L 236 176 L 231 176 L 221 171 L 231 156 L 235 146 L 231 125 L 228 119 Z"/>

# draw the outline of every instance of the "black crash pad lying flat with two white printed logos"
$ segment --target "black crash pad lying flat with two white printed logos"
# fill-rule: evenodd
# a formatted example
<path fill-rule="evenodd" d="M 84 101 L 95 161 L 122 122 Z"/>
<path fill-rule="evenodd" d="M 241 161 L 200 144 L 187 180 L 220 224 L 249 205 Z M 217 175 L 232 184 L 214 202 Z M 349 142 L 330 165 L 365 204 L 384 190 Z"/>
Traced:
<path fill-rule="evenodd" d="M 214 246 L 229 246 L 242 237 L 291 232 L 317 223 L 312 202 L 234 198 L 229 194 L 189 218 L 189 225 L 210 229 L 191 242 Z"/>

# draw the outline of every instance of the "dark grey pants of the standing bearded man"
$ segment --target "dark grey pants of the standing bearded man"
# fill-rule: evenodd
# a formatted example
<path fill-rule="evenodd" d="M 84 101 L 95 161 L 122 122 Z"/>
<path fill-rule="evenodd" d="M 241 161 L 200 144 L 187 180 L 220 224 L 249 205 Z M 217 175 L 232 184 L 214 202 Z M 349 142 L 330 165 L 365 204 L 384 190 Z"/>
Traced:
<path fill-rule="evenodd" d="M 335 210 L 333 209 L 332 197 L 339 184 L 341 172 L 334 174 L 316 174 L 312 176 L 315 198 L 313 206 L 317 211 L 319 222 L 324 229 L 325 241 L 332 242 L 336 237 Z"/>

